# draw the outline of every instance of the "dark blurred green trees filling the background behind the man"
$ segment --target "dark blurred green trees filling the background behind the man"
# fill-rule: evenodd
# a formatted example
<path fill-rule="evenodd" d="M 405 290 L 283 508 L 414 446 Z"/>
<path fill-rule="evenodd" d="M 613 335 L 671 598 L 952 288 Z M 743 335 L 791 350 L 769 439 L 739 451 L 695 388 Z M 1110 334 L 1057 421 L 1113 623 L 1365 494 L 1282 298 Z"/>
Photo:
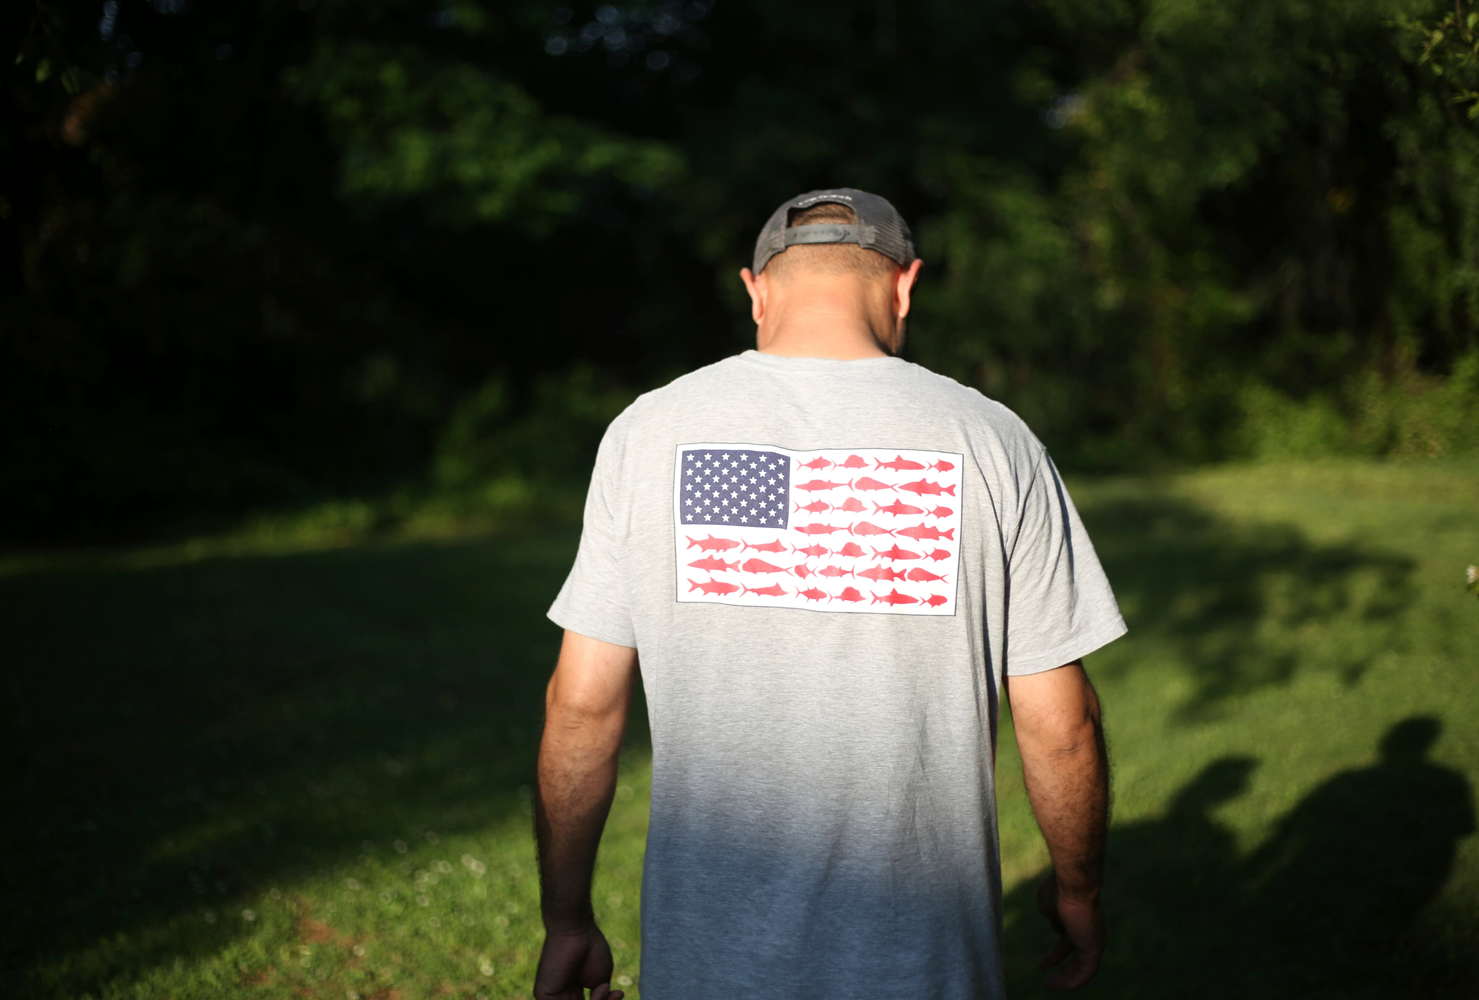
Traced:
<path fill-rule="evenodd" d="M 916 222 L 908 356 L 1060 461 L 1479 445 L 1463 0 L 3 16 L 16 542 L 580 489 L 633 393 L 747 346 L 756 229 L 836 185 Z"/>

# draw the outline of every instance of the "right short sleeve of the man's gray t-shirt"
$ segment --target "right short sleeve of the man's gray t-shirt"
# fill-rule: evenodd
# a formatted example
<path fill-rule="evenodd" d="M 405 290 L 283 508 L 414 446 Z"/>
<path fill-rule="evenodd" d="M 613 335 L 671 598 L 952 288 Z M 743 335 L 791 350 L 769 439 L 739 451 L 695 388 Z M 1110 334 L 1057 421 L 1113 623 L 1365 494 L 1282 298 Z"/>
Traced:
<path fill-rule="evenodd" d="M 1007 564 L 1007 675 L 1072 663 L 1126 632 L 1089 532 L 1046 453 L 1019 501 Z"/>

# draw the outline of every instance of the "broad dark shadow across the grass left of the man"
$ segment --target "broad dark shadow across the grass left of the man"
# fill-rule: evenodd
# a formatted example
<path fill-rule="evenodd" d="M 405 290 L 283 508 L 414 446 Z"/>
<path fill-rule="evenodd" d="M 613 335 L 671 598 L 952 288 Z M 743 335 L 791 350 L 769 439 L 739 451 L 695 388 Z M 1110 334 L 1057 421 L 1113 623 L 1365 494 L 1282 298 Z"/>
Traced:
<path fill-rule="evenodd" d="M 0 581 L 0 996 L 80 996 L 364 851 L 524 824 L 575 536 Z M 632 740 L 645 742 L 645 712 Z M 186 842 L 183 832 L 197 839 Z M 198 926 L 197 926 L 198 925 Z M 155 944 L 136 932 L 152 928 Z M 115 934 L 98 968 L 28 969 Z"/>

